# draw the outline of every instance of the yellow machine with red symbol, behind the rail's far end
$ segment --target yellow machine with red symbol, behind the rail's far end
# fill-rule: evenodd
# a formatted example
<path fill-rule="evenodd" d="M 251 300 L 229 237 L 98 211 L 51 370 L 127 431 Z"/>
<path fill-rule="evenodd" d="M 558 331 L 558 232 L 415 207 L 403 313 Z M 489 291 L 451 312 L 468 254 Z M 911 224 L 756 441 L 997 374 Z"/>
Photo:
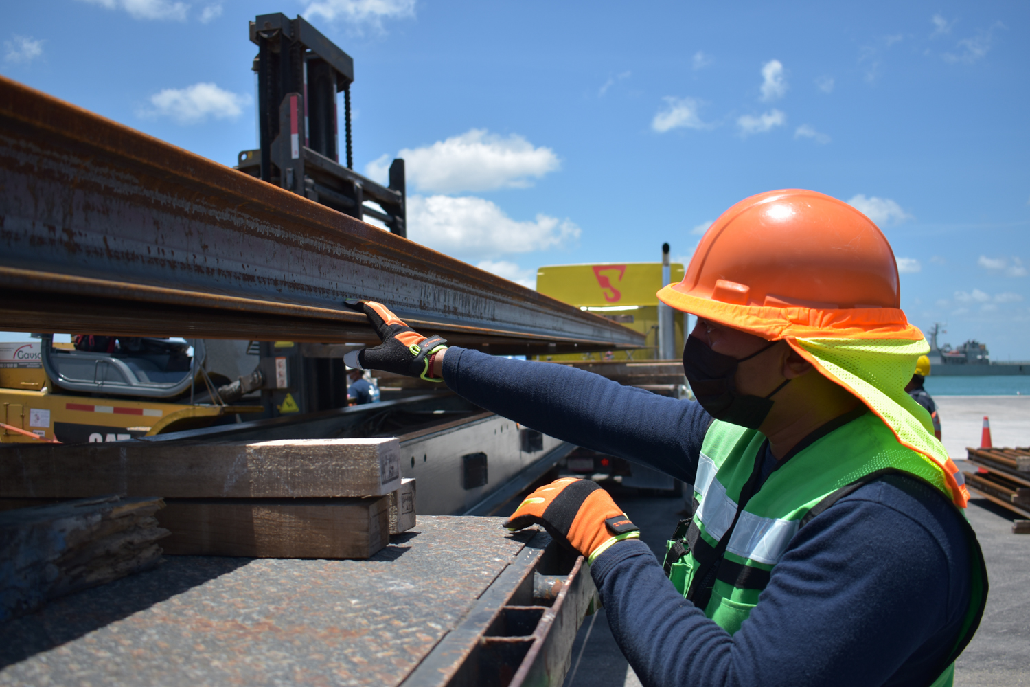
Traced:
<path fill-rule="evenodd" d="M 600 263 L 596 265 L 549 265 L 537 271 L 537 290 L 575 305 L 647 337 L 644 350 L 613 353 L 551 355 L 548 359 L 654 359 L 658 357 L 658 298 L 662 287 L 661 263 Z M 670 266 L 673 283 L 683 280 L 684 267 Z M 684 343 L 683 313 L 673 312 L 675 350 Z"/>

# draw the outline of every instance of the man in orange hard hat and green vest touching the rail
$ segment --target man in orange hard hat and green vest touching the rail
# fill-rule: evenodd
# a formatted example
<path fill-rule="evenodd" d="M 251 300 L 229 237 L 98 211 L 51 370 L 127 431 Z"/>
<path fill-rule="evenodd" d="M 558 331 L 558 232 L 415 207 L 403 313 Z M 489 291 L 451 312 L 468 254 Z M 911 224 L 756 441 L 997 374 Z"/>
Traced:
<path fill-rule="evenodd" d="M 589 372 L 447 346 L 384 306 L 350 365 L 439 380 L 525 426 L 693 484 L 659 562 L 607 491 L 560 479 L 506 525 L 586 557 L 644 685 L 951 685 L 987 572 L 962 475 L 901 383 L 927 352 L 894 254 L 855 208 L 810 191 L 717 219 L 679 284 L 696 315 L 696 402 Z M 672 528 L 672 527 L 671 527 Z"/>

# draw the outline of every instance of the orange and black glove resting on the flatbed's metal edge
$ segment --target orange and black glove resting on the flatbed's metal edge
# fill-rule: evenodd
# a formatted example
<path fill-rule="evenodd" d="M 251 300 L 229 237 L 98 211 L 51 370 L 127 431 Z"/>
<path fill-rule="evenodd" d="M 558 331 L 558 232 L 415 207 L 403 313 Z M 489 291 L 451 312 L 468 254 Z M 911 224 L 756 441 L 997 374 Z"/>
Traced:
<path fill-rule="evenodd" d="M 640 527 L 629 521 L 608 492 L 592 480 L 565 477 L 530 493 L 508 518 L 511 531 L 542 524 L 548 534 L 582 553 L 587 562 L 625 539 L 639 539 Z"/>

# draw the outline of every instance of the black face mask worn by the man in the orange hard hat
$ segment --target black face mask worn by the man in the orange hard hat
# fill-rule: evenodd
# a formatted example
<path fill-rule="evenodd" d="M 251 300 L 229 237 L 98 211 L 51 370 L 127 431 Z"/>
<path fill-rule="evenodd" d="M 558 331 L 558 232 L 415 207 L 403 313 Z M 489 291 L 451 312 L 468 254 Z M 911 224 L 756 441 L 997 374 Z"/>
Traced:
<path fill-rule="evenodd" d="M 733 376 L 736 374 L 737 364 L 750 360 L 778 343 L 780 342 L 772 341 L 751 355 L 737 359 L 717 353 L 700 339 L 688 336 L 687 345 L 683 347 L 683 371 L 697 403 L 717 420 L 757 430 L 772 410 L 769 399 L 790 380 L 784 380 L 771 393 L 762 398 L 737 393 Z"/>

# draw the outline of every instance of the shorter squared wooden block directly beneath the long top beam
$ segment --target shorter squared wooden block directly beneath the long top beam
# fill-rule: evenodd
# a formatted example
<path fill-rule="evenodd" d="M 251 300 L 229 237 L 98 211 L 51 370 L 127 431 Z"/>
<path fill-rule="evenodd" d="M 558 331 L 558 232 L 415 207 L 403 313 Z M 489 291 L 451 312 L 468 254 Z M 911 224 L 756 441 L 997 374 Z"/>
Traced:
<path fill-rule="evenodd" d="M 169 499 L 166 554 L 368 558 L 389 543 L 389 495 L 367 499 Z"/>

